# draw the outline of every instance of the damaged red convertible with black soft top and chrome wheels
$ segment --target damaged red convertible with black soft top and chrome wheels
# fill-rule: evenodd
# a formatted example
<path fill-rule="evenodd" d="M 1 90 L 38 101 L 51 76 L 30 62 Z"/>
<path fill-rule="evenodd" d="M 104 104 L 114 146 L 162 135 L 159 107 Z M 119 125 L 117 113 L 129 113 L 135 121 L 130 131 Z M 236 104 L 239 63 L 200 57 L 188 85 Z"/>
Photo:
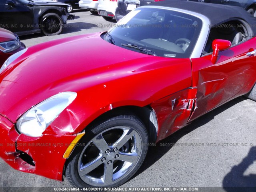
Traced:
<path fill-rule="evenodd" d="M 14 54 L 0 70 L 1 158 L 78 187 L 123 184 L 150 143 L 256 100 L 255 27 L 240 7 L 162 1 Z"/>

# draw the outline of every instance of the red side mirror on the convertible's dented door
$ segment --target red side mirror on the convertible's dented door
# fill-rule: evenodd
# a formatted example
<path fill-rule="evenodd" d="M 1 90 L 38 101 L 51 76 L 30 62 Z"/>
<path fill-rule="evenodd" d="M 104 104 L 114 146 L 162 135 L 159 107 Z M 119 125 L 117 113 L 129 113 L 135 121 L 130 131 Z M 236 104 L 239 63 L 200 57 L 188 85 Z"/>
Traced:
<path fill-rule="evenodd" d="M 218 55 L 219 55 L 219 51 L 223 51 L 226 50 L 228 48 L 230 48 L 231 46 L 231 42 L 228 40 L 223 40 L 223 39 L 215 39 L 212 42 L 212 58 L 211 61 L 213 64 L 216 63 Z"/>

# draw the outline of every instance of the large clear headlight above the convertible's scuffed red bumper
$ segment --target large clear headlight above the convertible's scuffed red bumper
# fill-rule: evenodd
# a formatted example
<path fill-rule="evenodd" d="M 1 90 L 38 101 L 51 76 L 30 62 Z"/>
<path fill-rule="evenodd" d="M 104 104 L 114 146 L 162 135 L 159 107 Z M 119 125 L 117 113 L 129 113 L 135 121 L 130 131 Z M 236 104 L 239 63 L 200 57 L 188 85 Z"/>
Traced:
<path fill-rule="evenodd" d="M 76 92 L 62 92 L 32 107 L 18 119 L 16 124 L 18 131 L 31 137 L 41 136 L 76 96 Z"/>

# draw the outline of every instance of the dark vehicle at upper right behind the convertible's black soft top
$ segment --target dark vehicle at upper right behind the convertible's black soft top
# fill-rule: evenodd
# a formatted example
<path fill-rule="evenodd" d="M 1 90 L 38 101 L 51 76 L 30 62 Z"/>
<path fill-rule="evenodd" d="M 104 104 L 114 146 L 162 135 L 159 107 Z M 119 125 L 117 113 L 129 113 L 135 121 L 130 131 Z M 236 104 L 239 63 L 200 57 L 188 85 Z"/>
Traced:
<path fill-rule="evenodd" d="M 256 0 L 189 0 L 202 3 L 214 3 L 223 5 L 240 6 L 256 17 Z"/>

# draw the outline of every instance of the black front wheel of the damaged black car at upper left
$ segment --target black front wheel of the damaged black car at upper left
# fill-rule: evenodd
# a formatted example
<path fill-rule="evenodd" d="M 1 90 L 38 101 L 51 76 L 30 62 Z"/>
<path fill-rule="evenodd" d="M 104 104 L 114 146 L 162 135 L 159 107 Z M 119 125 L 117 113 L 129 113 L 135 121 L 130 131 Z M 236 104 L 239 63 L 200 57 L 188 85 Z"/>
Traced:
<path fill-rule="evenodd" d="M 62 32 L 63 22 L 55 13 L 45 14 L 42 18 L 42 32 L 46 36 L 58 35 Z"/>

